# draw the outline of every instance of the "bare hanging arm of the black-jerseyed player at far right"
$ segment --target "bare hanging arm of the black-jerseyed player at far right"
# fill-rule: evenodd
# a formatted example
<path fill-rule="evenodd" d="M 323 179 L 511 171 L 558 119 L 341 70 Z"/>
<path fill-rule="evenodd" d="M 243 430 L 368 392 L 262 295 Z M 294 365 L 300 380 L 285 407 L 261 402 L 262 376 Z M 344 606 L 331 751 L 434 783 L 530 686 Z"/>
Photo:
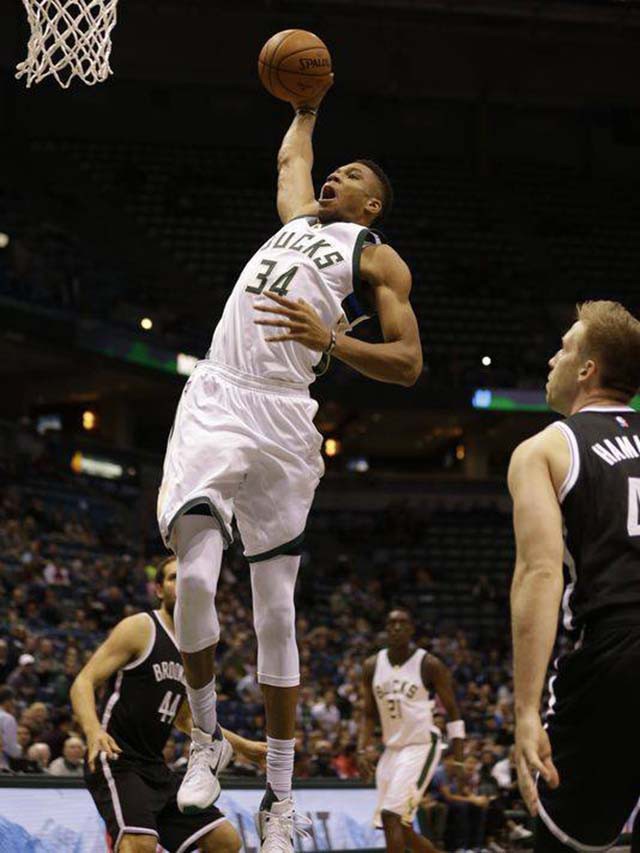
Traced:
<path fill-rule="evenodd" d="M 563 590 L 562 513 L 553 468 L 563 464 L 565 455 L 562 434 L 547 429 L 521 444 L 509 466 L 516 538 L 511 586 L 516 766 L 520 790 L 532 814 L 538 809 L 533 774 L 541 773 L 554 787 L 559 782 L 540 721 L 540 701 Z"/>

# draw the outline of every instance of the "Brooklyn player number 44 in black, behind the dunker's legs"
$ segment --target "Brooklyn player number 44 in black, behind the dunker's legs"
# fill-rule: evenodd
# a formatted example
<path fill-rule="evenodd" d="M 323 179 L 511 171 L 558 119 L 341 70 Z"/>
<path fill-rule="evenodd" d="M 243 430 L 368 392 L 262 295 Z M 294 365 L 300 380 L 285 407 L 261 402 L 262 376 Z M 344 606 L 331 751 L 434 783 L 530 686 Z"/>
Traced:
<path fill-rule="evenodd" d="M 182 814 L 176 795 L 182 777 L 162 751 L 173 726 L 189 733 L 182 658 L 173 630 L 176 560 L 156 574 L 162 605 L 116 625 L 71 688 L 71 702 L 87 738 L 85 779 L 102 815 L 114 853 L 235 853 L 240 837 L 215 806 Z M 107 683 L 100 716 L 95 691 Z M 231 747 L 250 761 L 266 758 L 266 744 L 225 731 Z M 232 750 L 225 756 L 228 763 Z M 224 769 L 224 768 L 220 768 Z"/>

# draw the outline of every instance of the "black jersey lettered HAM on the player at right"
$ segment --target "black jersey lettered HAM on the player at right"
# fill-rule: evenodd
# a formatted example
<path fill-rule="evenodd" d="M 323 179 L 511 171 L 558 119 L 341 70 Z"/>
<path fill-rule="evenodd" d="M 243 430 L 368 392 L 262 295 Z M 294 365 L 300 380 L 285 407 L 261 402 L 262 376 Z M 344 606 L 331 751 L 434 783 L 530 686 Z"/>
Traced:
<path fill-rule="evenodd" d="M 558 422 L 571 450 L 560 491 L 564 624 L 637 608 L 640 623 L 640 413 L 587 408 Z M 635 616 L 633 616 L 635 619 Z"/>

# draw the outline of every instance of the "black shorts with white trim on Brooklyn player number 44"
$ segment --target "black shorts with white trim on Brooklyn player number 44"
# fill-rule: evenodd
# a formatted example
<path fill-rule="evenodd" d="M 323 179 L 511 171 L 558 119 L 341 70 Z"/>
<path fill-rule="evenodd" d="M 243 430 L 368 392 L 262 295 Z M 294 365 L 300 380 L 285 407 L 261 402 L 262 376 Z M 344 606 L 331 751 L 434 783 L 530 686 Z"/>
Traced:
<path fill-rule="evenodd" d="M 95 773 L 85 767 L 85 781 L 115 853 L 127 833 L 155 835 L 169 853 L 187 853 L 197 850 L 198 839 L 226 820 L 215 806 L 183 815 L 176 801 L 182 776 L 163 765 L 98 759 Z"/>

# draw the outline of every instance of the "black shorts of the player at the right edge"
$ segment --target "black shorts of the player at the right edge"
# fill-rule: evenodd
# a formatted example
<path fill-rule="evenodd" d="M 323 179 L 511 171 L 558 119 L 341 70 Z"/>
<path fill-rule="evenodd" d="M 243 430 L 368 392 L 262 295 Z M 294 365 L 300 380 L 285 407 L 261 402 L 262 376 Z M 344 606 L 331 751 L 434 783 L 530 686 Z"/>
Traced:
<path fill-rule="evenodd" d="M 550 684 L 547 731 L 560 786 L 538 782 L 535 849 L 606 849 L 640 799 L 640 624 L 587 630 Z"/>

